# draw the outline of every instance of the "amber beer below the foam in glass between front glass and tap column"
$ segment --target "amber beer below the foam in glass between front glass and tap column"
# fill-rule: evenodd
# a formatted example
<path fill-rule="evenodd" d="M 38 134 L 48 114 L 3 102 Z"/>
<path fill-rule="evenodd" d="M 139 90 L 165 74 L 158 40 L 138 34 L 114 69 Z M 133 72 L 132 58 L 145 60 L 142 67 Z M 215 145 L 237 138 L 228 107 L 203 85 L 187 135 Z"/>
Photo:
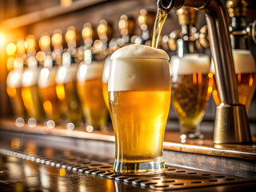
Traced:
<path fill-rule="evenodd" d="M 194 131 L 202 121 L 209 100 L 210 78 L 208 74 L 178 75 L 172 82 L 172 102 L 178 119 L 186 131 Z"/>

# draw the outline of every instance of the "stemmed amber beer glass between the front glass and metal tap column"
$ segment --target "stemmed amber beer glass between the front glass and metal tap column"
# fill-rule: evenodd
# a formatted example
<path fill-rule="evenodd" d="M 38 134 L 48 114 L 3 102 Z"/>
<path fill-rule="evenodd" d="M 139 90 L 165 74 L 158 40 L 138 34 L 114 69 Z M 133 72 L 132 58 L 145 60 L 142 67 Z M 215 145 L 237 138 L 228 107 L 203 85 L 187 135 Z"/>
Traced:
<path fill-rule="evenodd" d="M 210 59 L 185 54 L 170 60 L 172 103 L 178 114 L 181 138 L 202 138 L 198 125 L 205 114 L 212 90 Z"/>

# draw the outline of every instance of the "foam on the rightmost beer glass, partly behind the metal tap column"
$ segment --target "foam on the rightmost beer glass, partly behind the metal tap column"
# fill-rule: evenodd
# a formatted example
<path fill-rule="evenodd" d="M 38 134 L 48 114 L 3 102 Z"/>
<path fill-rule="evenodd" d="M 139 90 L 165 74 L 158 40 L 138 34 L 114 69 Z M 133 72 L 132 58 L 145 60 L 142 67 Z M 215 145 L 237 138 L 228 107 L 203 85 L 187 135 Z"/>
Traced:
<path fill-rule="evenodd" d="M 236 74 L 255 73 L 256 66 L 254 56 L 250 50 L 233 50 L 234 71 Z M 210 71 L 215 74 L 214 61 L 211 60 Z"/>

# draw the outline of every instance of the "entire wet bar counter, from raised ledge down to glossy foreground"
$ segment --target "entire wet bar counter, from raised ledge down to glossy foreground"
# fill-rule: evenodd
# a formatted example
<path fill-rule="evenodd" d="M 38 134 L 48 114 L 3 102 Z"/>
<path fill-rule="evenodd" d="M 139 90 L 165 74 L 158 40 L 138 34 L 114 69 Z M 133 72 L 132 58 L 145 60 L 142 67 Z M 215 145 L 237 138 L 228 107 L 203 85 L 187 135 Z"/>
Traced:
<path fill-rule="evenodd" d="M 112 171 L 114 142 L 110 132 L 86 133 L 82 129 L 70 131 L 60 127 L 54 128 L 58 134 L 53 134 L 53 130 L 43 132 L 46 129 L 43 126 L 18 128 L 14 127 L 14 123 L 9 125 L 12 126 L 2 126 L 0 129 L 0 191 L 254 191 L 256 188 L 256 161 L 254 156 L 250 156 L 254 155 L 254 150 L 249 151 L 250 158 L 246 155 L 246 158 L 224 158 L 164 150 L 165 174 L 120 178 Z M 172 133 L 168 132 L 167 138 L 168 134 Z M 210 144 L 211 140 L 206 138 L 201 142 L 205 141 Z M 184 146 L 186 150 L 213 148 L 210 145 L 198 146 L 197 143 L 179 143 L 178 140 L 166 142 L 165 147 L 168 143 L 171 147 Z M 236 151 L 237 147 L 232 147 Z M 254 145 L 251 147 L 254 148 Z M 240 150 L 238 153 L 243 152 Z M 42 175 L 46 172 L 49 177 L 45 179 Z M 27 178 L 26 173 L 35 176 Z M 45 180 L 52 181 L 49 189 L 44 186 Z M 59 182 L 62 183 L 60 186 Z M 34 183 L 34 186 L 30 186 L 30 183 Z M 65 186 L 68 186 L 68 190 Z M 22 190 L 16 190 L 19 189 L 17 187 Z"/>

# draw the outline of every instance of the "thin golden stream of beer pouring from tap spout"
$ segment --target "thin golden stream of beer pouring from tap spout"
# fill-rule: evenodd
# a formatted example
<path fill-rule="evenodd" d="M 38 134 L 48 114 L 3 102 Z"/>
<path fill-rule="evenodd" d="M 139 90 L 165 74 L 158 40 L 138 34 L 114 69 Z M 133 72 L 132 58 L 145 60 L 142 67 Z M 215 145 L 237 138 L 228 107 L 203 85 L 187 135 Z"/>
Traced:
<path fill-rule="evenodd" d="M 158 48 L 158 42 L 162 31 L 162 26 L 166 21 L 168 13 L 165 10 L 158 9 L 157 17 L 154 21 L 154 32 L 152 37 L 152 47 Z"/>

